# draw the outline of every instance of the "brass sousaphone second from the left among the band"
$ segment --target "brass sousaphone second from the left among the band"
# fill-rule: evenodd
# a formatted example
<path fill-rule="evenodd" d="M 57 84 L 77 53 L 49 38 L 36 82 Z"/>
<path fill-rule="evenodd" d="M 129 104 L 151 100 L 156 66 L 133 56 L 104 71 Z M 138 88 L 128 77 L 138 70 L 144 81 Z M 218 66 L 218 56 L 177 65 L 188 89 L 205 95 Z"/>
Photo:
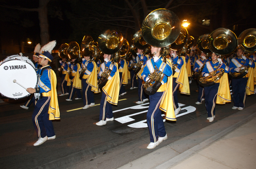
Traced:
<path fill-rule="evenodd" d="M 77 42 L 75 41 L 71 41 L 69 44 L 68 44 L 68 58 L 73 60 L 73 59 L 77 59 L 78 56 L 79 56 L 79 53 L 80 53 L 80 48 L 79 48 L 79 45 Z M 69 69 L 67 71 L 68 75 L 69 75 L 69 79 L 72 78 L 72 71 L 73 69 Z"/>

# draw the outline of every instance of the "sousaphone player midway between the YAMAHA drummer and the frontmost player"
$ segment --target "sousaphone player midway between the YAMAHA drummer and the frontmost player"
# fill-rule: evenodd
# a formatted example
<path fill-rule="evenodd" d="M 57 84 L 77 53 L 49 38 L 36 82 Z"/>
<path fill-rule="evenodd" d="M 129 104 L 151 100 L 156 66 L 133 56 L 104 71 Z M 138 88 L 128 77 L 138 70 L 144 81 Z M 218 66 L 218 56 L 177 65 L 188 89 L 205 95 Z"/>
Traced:
<path fill-rule="evenodd" d="M 100 118 L 96 123 L 102 126 L 107 124 L 107 121 L 114 120 L 111 104 L 118 103 L 120 79 L 117 62 L 124 37 L 122 32 L 108 29 L 100 34 L 97 41 L 100 51 L 104 53 L 104 62 L 100 66 L 98 80 L 99 88 L 102 88 Z"/>

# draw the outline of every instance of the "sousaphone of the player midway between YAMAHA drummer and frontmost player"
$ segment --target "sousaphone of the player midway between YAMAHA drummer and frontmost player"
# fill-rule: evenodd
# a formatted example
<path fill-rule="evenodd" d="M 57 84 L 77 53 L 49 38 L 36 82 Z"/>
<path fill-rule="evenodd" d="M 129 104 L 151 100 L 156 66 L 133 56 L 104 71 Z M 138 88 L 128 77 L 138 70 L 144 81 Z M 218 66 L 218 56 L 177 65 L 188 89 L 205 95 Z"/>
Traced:
<path fill-rule="evenodd" d="M 105 54 L 113 54 L 111 56 L 112 62 L 118 62 L 120 59 L 119 50 L 122 48 L 124 37 L 122 32 L 115 30 L 106 30 L 102 32 L 98 38 L 99 49 Z M 98 80 L 99 88 L 103 88 L 108 82 L 108 77 L 111 70 L 105 66 L 104 72 L 101 73 L 100 79 Z"/>

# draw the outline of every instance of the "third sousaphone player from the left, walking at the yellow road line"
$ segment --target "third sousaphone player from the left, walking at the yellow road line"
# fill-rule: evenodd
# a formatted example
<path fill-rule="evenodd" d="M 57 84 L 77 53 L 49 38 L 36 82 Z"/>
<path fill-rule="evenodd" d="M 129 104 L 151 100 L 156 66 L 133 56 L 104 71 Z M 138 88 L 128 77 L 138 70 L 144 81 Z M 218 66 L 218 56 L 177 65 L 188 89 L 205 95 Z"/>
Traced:
<path fill-rule="evenodd" d="M 99 58 L 99 49 L 94 46 L 94 41 L 90 35 L 85 35 L 81 45 L 81 55 L 84 57 L 82 68 L 80 68 L 80 80 L 83 83 L 83 109 L 88 109 L 94 106 L 94 93 L 99 93 L 100 90 L 97 84 L 97 66 L 96 61 Z"/>

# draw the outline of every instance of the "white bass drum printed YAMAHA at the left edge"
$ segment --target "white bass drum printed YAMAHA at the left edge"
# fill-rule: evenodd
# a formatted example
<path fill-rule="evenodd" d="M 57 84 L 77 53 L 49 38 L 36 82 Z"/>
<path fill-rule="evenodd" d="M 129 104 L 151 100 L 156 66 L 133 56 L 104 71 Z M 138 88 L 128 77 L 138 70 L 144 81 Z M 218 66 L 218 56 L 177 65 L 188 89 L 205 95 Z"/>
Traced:
<path fill-rule="evenodd" d="M 7 59 L 0 63 L 0 78 L 0 93 L 11 99 L 21 99 L 30 95 L 25 88 L 36 88 L 38 82 L 35 68 L 25 60 L 19 59 Z"/>

